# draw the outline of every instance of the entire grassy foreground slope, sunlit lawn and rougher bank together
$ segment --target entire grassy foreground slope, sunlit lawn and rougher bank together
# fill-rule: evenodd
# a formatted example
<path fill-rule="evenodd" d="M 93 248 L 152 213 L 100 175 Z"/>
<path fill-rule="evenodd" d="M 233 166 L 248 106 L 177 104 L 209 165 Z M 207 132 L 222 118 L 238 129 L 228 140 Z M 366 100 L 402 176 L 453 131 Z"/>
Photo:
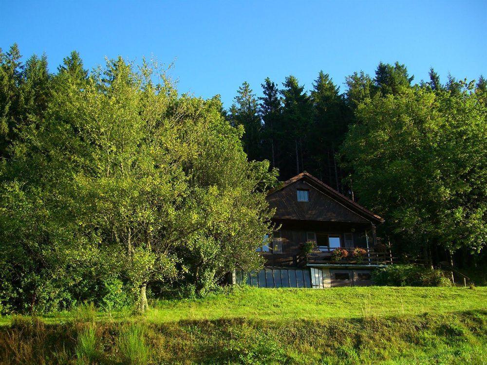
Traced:
<path fill-rule="evenodd" d="M 485 364 L 487 288 L 237 289 L 3 318 L 1 364 Z"/>

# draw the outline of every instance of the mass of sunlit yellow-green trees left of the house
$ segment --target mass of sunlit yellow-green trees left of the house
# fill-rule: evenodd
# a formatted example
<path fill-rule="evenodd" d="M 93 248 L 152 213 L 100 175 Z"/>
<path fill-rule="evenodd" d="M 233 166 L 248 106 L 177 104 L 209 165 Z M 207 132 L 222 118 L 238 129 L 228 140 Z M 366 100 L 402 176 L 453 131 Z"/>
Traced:
<path fill-rule="evenodd" d="M 260 267 L 276 173 L 222 110 L 146 62 L 90 73 L 73 52 L 53 74 L 0 52 L 0 312 L 145 310 Z"/>

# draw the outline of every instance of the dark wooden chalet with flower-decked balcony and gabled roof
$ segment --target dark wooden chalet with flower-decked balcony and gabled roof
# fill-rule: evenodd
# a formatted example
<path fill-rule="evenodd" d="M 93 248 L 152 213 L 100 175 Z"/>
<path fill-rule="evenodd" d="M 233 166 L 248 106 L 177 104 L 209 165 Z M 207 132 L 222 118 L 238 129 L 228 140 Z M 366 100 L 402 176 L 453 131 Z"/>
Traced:
<path fill-rule="evenodd" d="M 372 285 L 372 269 L 392 263 L 390 250 L 375 234 L 384 219 L 307 172 L 269 191 L 267 201 L 276 210 L 278 230 L 257 249 L 265 258 L 264 269 L 236 273 L 235 282 L 298 288 Z"/>

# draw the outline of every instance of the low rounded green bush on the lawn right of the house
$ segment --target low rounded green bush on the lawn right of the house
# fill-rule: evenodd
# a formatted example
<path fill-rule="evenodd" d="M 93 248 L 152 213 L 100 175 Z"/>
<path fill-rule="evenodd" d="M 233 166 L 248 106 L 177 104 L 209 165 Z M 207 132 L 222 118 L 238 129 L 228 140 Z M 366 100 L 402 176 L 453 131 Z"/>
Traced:
<path fill-rule="evenodd" d="M 451 286 L 443 271 L 432 270 L 417 265 L 391 265 L 376 269 L 372 280 L 377 285 L 412 286 L 412 287 L 443 287 Z"/>

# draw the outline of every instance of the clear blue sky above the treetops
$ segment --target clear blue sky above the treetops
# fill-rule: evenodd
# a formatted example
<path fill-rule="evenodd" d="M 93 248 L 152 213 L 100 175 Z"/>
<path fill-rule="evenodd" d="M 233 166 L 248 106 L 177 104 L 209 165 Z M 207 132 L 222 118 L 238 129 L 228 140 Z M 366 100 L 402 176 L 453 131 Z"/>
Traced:
<path fill-rule="evenodd" d="M 87 68 L 104 56 L 175 60 L 178 89 L 221 94 L 228 108 L 248 81 L 318 71 L 344 91 L 345 76 L 405 63 L 415 81 L 432 66 L 446 80 L 487 76 L 487 1 L 0 1 L 0 47 L 45 52 L 50 69 L 78 51 Z"/>

